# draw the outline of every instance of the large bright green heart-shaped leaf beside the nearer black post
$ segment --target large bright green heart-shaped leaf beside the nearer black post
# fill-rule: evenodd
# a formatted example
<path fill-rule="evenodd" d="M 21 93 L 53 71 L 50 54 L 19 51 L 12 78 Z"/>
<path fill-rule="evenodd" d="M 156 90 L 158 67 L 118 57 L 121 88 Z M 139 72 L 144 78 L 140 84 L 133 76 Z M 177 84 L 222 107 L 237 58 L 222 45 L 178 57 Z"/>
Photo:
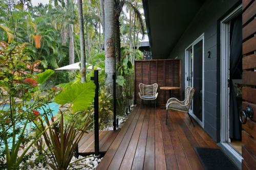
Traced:
<path fill-rule="evenodd" d="M 54 102 L 64 105 L 71 104 L 74 112 L 86 110 L 92 103 L 95 96 L 95 85 L 89 83 L 75 83 L 67 86 L 54 99 Z"/>

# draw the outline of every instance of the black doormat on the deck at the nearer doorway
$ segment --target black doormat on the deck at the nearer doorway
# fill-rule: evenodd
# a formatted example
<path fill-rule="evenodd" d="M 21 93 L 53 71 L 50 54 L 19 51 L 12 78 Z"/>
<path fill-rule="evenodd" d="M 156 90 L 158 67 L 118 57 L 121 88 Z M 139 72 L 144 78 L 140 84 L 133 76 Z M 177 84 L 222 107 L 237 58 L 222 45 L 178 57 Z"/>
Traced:
<path fill-rule="evenodd" d="M 238 169 L 220 149 L 195 147 L 195 151 L 205 169 Z"/>

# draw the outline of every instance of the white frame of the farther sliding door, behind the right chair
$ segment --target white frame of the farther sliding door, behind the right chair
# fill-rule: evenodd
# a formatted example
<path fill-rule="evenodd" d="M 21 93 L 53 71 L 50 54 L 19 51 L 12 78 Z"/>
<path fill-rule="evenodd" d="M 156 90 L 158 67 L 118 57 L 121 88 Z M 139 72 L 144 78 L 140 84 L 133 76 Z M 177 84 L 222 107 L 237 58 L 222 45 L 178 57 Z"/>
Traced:
<path fill-rule="evenodd" d="M 202 69 L 202 121 L 193 113 L 193 110 L 189 109 L 189 114 L 198 122 L 198 124 L 204 128 L 204 33 L 200 35 L 193 43 L 191 43 L 186 49 L 185 49 L 185 86 L 188 86 L 188 81 L 186 80 L 187 77 L 187 72 L 188 72 L 188 57 L 189 57 L 189 52 L 188 50 L 192 48 L 192 54 L 194 55 L 194 45 L 196 45 L 199 41 L 203 40 L 203 69 Z M 193 64 L 192 64 L 192 70 L 194 70 L 194 56 L 193 56 Z M 194 86 L 194 81 L 192 79 L 192 86 Z M 192 106 L 193 106 L 193 101 L 192 101 Z"/>

